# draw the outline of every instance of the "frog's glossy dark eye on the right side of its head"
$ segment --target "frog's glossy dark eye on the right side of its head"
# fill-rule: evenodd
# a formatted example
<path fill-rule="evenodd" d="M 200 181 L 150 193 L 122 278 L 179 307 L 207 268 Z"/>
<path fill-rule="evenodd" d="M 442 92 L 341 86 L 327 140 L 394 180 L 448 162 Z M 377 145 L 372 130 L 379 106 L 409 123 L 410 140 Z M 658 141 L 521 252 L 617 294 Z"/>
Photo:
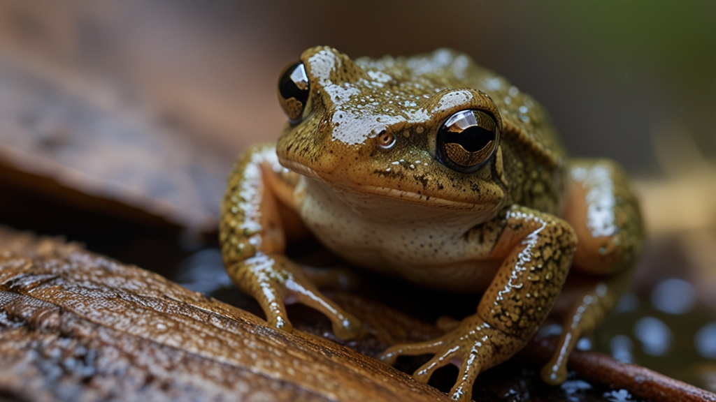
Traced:
<path fill-rule="evenodd" d="M 452 170 L 472 173 L 490 159 L 500 141 L 495 119 L 481 110 L 462 110 L 437 130 L 437 160 Z"/>

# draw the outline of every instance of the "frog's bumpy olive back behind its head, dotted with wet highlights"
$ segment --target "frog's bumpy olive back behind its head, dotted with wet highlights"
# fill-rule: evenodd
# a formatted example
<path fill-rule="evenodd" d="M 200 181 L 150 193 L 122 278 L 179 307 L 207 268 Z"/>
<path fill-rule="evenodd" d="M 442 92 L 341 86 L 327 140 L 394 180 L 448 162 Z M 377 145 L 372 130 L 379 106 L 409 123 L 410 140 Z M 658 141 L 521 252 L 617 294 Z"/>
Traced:
<path fill-rule="evenodd" d="M 512 202 L 556 214 L 561 208 L 566 150 L 546 111 L 507 79 L 451 49 L 413 57 L 357 59 L 363 69 L 390 74 L 405 90 L 425 93 L 474 88 L 488 94 L 500 110 L 505 177 Z"/>

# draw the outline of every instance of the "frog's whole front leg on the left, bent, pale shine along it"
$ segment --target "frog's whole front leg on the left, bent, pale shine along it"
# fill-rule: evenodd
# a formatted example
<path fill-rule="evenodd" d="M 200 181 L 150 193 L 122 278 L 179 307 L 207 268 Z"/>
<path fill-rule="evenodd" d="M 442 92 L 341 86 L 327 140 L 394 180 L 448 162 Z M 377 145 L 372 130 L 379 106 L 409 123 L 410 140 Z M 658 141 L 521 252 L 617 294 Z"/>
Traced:
<path fill-rule="evenodd" d="M 274 328 L 293 330 L 285 303 L 295 300 L 324 313 L 339 338 L 355 338 L 360 321 L 321 294 L 301 266 L 284 255 L 286 225 L 280 208 L 295 210 L 297 181 L 296 173 L 279 165 L 273 145 L 251 147 L 236 162 L 219 225 L 226 270 L 243 293 L 256 298 Z"/>

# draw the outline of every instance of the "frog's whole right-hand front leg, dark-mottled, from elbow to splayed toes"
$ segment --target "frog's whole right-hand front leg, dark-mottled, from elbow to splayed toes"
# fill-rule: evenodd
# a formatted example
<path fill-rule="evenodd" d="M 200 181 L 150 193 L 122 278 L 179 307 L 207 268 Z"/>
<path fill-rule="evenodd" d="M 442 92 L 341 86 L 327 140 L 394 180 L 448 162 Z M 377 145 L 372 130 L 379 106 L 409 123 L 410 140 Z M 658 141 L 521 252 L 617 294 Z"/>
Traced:
<path fill-rule="evenodd" d="M 477 314 L 440 338 L 395 345 L 381 356 L 382 361 L 392 364 L 400 355 L 435 354 L 413 374 L 424 383 L 435 369 L 455 363 L 460 373 L 450 396 L 458 401 L 470 400 L 480 371 L 513 356 L 536 332 L 562 288 L 576 246 L 569 224 L 526 207 L 511 207 L 506 214 L 468 233 L 467 241 L 485 241 L 493 233 L 500 233 L 492 240 L 493 247 L 475 244 L 475 248 L 485 250 L 477 258 L 502 260 Z"/>

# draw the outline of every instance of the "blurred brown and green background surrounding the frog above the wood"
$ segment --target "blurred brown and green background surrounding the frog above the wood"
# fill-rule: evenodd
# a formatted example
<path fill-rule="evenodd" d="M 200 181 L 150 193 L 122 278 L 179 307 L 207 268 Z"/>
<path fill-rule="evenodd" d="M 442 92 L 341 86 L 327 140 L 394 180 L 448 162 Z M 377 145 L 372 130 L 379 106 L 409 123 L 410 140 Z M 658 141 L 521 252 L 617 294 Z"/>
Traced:
<path fill-rule="evenodd" d="M 624 165 L 649 241 L 593 347 L 716 391 L 712 0 L 2 0 L 0 222 L 169 275 L 211 242 L 233 158 L 276 139 L 278 74 L 316 44 L 467 52 L 571 155 Z M 77 228 L 86 211 L 110 223 Z"/>

